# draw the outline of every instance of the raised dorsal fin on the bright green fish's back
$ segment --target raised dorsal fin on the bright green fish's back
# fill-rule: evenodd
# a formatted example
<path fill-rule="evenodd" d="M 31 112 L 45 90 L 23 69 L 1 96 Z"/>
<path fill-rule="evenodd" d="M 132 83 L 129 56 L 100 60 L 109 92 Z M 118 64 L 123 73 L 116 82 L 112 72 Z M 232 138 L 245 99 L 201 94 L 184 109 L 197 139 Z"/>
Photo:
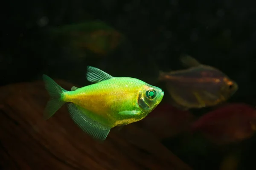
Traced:
<path fill-rule="evenodd" d="M 87 66 L 87 80 L 89 82 L 101 82 L 107 79 L 112 79 L 113 77 L 108 73 L 100 70 L 99 68 L 95 68 L 92 66 Z"/>

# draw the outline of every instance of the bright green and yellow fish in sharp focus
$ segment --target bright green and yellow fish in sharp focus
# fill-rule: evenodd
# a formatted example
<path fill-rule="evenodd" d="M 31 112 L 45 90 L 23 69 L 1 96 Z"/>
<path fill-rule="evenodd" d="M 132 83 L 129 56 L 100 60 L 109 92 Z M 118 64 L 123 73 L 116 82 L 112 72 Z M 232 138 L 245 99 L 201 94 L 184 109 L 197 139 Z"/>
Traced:
<path fill-rule="evenodd" d="M 105 140 L 112 127 L 137 122 L 148 115 L 163 99 L 155 86 L 130 77 L 112 77 L 94 67 L 87 67 L 87 80 L 96 84 L 66 91 L 43 75 L 51 100 L 45 109 L 50 118 L 68 102 L 74 122 L 95 139 Z"/>

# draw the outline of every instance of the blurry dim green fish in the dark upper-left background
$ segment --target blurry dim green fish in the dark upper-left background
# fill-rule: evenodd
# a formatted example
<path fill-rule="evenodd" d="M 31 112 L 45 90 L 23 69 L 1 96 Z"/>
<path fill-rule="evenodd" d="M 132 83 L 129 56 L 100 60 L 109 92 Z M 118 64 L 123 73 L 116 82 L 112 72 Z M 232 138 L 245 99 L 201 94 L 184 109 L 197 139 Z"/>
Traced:
<path fill-rule="evenodd" d="M 81 52 L 80 56 L 84 56 L 85 49 L 106 56 L 124 40 L 121 33 L 100 20 L 52 28 L 50 33 L 59 43 L 70 45 L 73 52 Z"/>

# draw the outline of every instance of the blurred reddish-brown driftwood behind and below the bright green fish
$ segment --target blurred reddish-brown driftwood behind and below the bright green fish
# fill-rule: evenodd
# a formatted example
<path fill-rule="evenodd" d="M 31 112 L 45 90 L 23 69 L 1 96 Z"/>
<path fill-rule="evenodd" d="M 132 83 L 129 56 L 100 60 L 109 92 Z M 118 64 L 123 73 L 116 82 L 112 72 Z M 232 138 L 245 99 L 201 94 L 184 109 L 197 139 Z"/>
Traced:
<path fill-rule="evenodd" d="M 111 130 L 100 143 L 79 129 L 65 106 L 44 120 L 49 96 L 41 81 L 3 86 L 0 94 L 0 169 L 191 170 L 136 123 Z"/>

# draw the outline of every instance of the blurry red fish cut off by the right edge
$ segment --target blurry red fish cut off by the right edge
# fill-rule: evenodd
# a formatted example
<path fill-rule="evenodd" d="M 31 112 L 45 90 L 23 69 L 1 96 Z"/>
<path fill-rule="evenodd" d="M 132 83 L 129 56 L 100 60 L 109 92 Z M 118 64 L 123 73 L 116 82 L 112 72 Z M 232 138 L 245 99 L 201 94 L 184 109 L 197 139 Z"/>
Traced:
<path fill-rule="evenodd" d="M 226 144 L 250 138 L 256 130 L 256 110 L 244 103 L 233 103 L 207 113 L 192 124 L 212 142 Z"/>

